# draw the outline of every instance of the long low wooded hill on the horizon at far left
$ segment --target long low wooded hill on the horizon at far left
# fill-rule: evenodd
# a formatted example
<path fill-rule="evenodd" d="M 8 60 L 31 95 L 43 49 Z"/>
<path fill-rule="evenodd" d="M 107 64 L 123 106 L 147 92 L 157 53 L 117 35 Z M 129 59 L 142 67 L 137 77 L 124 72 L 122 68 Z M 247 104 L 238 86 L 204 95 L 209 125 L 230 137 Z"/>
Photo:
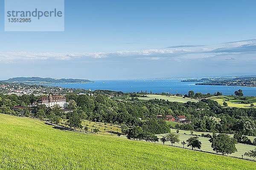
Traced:
<path fill-rule="evenodd" d="M 93 81 L 87 79 L 52 79 L 41 77 L 15 77 L 8 80 L 1 80 L 3 82 L 18 82 L 26 84 L 73 84 L 73 83 L 90 83 Z"/>

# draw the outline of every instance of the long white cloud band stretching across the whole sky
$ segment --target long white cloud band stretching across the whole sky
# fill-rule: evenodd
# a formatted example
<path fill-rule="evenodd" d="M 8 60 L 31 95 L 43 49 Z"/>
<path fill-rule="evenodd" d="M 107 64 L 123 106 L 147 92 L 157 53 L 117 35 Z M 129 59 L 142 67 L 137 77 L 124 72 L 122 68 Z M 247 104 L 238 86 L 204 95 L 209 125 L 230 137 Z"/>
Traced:
<path fill-rule="evenodd" d="M 251 45 L 251 46 L 250 46 Z M 0 52 L 0 63 L 13 63 L 20 61 L 72 61 L 80 62 L 95 61 L 93 59 L 111 58 L 113 60 L 122 60 L 124 57 L 133 59 L 160 60 L 174 58 L 175 61 L 182 59 L 201 59 L 211 58 L 213 54 L 242 54 L 245 52 L 256 53 L 256 39 L 243 40 L 237 42 L 226 42 L 215 47 L 202 47 L 197 49 L 148 49 L 142 51 L 112 51 L 112 52 L 94 52 L 94 53 L 55 53 L 55 52 Z"/>

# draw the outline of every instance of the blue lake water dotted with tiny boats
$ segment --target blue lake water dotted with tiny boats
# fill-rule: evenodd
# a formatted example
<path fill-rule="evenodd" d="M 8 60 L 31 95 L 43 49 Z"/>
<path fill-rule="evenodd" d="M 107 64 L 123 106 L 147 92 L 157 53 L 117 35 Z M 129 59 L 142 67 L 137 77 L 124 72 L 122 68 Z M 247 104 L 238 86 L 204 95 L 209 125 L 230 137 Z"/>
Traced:
<path fill-rule="evenodd" d="M 193 90 L 203 94 L 214 94 L 217 91 L 223 95 L 234 94 L 234 91 L 242 89 L 244 96 L 256 96 L 255 87 L 240 86 L 215 86 L 215 85 L 195 85 L 196 82 L 181 82 L 182 79 L 128 79 L 128 80 L 95 80 L 93 83 L 82 84 L 54 84 L 63 88 L 83 88 L 94 90 L 111 90 L 122 92 L 147 91 L 150 93 L 169 92 L 169 94 L 188 94 Z"/>

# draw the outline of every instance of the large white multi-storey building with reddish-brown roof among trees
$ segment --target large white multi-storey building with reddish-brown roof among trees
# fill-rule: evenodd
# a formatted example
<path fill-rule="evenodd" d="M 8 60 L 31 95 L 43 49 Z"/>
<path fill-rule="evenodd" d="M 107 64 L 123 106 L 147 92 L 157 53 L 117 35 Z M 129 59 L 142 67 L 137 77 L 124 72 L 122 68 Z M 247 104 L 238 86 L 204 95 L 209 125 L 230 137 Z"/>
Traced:
<path fill-rule="evenodd" d="M 63 95 L 42 96 L 38 100 L 38 105 L 45 105 L 46 107 L 52 107 L 54 105 L 59 105 L 61 108 L 64 108 L 65 103 L 66 103 L 66 97 Z"/>

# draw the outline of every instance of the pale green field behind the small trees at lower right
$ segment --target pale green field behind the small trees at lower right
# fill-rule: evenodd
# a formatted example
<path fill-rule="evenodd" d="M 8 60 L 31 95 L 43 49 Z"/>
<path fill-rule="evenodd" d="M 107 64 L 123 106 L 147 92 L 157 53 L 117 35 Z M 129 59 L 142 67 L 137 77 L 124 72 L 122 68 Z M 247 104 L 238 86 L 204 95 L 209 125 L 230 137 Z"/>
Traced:
<path fill-rule="evenodd" d="M 176 129 L 172 129 L 171 130 L 172 132 L 175 132 L 176 133 Z M 186 133 L 186 134 L 184 134 Z M 196 135 L 201 135 L 202 133 L 204 134 L 207 134 L 207 132 L 193 132 L 193 134 L 196 134 Z M 209 133 L 210 135 L 212 135 L 212 133 Z M 179 130 L 179 137 L 180 137 L 180 142 L 182 141 L 185 141 L 187 139 L 189 139 L 190 137 L 194 137 L 192 135 L 190 135 L 190 131 L 187 131 L 187 130 Z M 164 136 L 164 135 L 158 135 L 159 137 L 161 136 Z M 230 135 L 232 136 L 232 135 Z M 202 142 L 202 148 L 201 150 L 203 151 L 206 151 L 206 152 L 211 152 L 211 153 L 215 153 L 215 151 L 212 150 L 212 147 L 211 147 L 211 143 L 209 142 L 209 138 L 205 138 L 205 137 L 201 137 L 201 136 L 198 136 L 199 137 L 199 140 Z M 253 141 L 254 138 L 256 138 L 255 136 L 248 136 L 249 139 L 251 139 Z M 168 143 L 167 143 L 168 144 Z M 174 146 L 178 146 L 178 147 L 183 147 L 182 144 L 173 144 Z M 186 145 L 185 145 L 186 147 Z M 190 148 L 191 147 L 187 147 L 187 148 Z M 253 150 L 255 149 L 256 146 L 253 146 L 253 145 L 248 145 L 248 144 L 236 144 L 236 149 L 237 149 L 237 152 L 235 153 L 232 153 L 230 156 L 233 156 L 233 157 L 237 157 L 237 158 L 241 158 L 242 155 L 244 155 L 245 152 L 248 152 L 250 150 Z M 244 156 L 245 159 L 251 159 L 250 157 L 247 157 L 247 156 Z M 252 160 L 255 160 L 256 159 L 252 159 Z"/>

